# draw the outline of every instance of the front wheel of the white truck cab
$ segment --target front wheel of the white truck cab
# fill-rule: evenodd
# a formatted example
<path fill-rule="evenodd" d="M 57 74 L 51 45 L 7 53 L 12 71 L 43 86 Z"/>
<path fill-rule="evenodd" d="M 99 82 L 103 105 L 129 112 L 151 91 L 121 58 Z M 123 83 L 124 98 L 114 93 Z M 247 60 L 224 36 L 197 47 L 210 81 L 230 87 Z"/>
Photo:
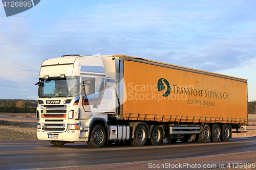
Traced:
<path fill-rule="evenodd" d="M 101 125 L 96 125 L 91 133 L 91 137 L 87 144 L 91 148 L 100 148 L 104 145 L 106 141 L 106 132 Z"/>

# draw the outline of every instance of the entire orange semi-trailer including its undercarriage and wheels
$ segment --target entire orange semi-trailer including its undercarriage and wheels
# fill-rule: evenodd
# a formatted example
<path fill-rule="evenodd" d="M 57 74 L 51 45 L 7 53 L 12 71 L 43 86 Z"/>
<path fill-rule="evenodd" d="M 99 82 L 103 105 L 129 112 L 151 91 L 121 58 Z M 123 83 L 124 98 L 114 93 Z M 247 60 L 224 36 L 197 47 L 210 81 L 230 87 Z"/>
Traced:
<path fill-rule="evenodd" d="M 141 145 L 137 138 L 147 132 L 152 144 L 165 137 L 169 142 L 228 141 L 232 129 L 238 133 L 248 124 L 246 79 L 130 56 L 113 57 L 119 59 L 117 80 L 124 83 L 117 87 L 121 96 L 113 116 L 117 120 L 110 123 L 122 120 L 129 125 L 134 145 Z"/>

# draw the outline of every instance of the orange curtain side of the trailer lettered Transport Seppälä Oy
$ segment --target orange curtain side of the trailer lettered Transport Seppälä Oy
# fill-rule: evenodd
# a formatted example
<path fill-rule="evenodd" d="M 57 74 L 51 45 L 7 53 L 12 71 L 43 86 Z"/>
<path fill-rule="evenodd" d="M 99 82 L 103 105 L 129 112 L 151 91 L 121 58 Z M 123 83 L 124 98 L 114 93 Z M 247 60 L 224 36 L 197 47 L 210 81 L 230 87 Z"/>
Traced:
<path fill-rule="evenodd" d="M 247 80 L 124 57 L 125 120 L 247 124 Z"/>

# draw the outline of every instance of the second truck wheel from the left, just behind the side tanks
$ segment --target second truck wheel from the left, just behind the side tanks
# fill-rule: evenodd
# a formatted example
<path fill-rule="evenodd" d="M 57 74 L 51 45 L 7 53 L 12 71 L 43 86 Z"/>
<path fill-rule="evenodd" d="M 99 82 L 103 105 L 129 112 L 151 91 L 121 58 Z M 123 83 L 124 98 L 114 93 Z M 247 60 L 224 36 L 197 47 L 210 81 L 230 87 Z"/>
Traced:
<path fill-rule="evenodd" d="M 132 145 L 143 146 L 148 138 L 148 131 L 144 125 L 139 125 L 134 132 L 134 139 L 132 139 Z"/>

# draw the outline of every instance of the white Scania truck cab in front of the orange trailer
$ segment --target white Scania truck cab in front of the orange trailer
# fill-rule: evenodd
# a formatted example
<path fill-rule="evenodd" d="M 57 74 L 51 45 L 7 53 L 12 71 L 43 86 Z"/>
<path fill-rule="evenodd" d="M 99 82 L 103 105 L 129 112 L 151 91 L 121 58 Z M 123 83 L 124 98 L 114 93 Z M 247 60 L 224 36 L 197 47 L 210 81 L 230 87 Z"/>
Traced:
<path fill-rule="evenodd" d="M 85 142 L 96 120 L 105 124 L 106 133 L 108 114 L 116 113 L 115 70 L 112 56 L 68 55 L 42 62 L 37 83 L 38 139 L 55 145 Z M 105 140 L 101 133 L 98 143 Z"/>

